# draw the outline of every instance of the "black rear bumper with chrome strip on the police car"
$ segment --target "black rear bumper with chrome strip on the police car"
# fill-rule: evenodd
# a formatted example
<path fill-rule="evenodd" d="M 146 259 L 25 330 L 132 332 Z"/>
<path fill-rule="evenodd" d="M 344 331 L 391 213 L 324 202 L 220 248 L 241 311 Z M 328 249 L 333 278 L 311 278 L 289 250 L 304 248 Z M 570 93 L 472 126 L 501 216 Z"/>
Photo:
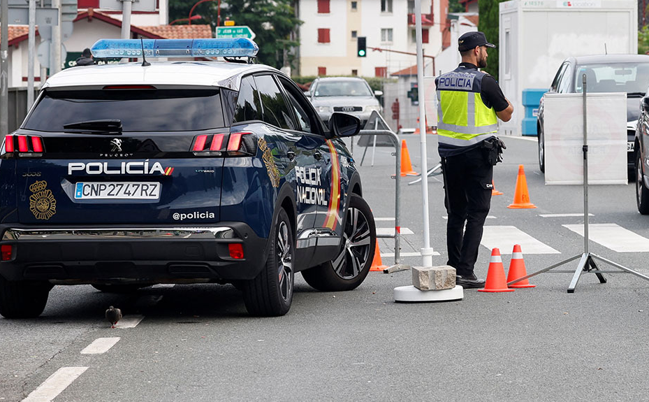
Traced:
<path fill-rule="evenodd" d="M 265 264 L 267 239 L 241 222 L 214 227 L 19 227 L 0 225 L 8 280 L 69 283 L 246 280 Z M 241 243 L 244 259 L 230 257 Z"/>

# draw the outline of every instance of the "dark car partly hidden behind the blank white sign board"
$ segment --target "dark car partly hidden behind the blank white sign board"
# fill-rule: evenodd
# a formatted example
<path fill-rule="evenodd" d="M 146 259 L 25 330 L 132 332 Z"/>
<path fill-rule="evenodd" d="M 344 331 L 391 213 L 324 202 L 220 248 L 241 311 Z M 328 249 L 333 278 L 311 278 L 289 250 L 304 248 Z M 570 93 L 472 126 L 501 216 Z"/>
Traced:
<path fill-rule="evenodd" d="M 634 137 L 640 113 L 640 99 L 649 85 L 648 55 L 595 55 L 568 57 L 559 67 L 548 92 L 570 94 L 582 92 L 582 75 L 586 75 L 588 92 L 627 93 L 627 167 L 634 177 Z M 539 104 L 539 168 L 545 166 L 544 100 Z"/>

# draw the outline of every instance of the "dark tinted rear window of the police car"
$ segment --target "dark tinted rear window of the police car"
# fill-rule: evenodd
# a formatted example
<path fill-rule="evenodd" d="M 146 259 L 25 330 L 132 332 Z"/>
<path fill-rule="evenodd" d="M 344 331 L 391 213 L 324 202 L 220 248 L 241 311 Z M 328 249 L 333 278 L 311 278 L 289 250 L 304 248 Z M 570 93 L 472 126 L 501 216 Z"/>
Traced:
<path fill-rule="evenodd" d="M 123 131 L 196 131 L 224 127 L 219 89 L 50 91 L 25 129 L 64 131 L 89 120 L 122 121 Z"/>

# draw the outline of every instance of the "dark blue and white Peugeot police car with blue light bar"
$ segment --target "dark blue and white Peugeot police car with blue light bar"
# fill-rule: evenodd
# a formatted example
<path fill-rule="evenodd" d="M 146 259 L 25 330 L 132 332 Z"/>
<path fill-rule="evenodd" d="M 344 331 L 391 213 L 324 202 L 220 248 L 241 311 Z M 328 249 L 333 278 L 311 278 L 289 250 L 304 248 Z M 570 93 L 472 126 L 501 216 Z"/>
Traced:
<path fill-rule="evenodd" d="M 302 271 L 354 289 L 376 229 L 360 175 L 291 79 L 248 39 L 101 40 L 102 57 L 184 57 L 52 76 L 0 155 L 0 314 L 36 317 L 53 285 L 127 292 L 232 283 L 252 315 L 289 311 Z M 226 61 L 196 61 L 224 57 Z"/>

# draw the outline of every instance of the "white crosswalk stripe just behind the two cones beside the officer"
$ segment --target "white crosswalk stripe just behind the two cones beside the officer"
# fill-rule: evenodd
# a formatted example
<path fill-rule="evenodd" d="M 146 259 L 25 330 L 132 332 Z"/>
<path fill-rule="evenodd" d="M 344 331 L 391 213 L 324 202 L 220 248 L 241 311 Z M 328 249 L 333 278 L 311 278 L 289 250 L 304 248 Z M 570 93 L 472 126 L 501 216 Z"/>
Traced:
<path fill-rule="evenodd" d="M 561 254 L 545 243 L 541 243 L 524 231 L 514 226 L 486 226 L 482 235 L 481 245 L 492 250 L 500 249 L 500 254 L 511 254 L 513 245 L 520 244 L 525 254 Z"/>

